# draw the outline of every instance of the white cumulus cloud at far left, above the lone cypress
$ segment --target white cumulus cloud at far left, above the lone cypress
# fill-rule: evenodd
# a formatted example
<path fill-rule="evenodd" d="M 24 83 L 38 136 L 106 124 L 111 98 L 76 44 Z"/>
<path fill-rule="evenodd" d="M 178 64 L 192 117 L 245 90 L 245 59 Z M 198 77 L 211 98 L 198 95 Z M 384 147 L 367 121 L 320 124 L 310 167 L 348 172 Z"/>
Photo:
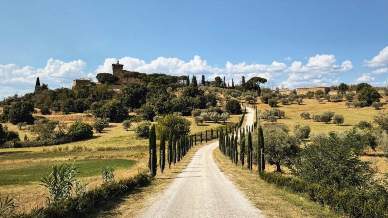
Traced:
<path fill-rule="evenodd" d="M 86 68 L 84 61 L 64 62 L 50 58 L 44 68 L 31 66 L 19 67 L 15 64 L 0 65 L 0 97 L 31 92 L 36 77 L 50 87 L 71 86 L 73 79 L 84 77 Z"/>

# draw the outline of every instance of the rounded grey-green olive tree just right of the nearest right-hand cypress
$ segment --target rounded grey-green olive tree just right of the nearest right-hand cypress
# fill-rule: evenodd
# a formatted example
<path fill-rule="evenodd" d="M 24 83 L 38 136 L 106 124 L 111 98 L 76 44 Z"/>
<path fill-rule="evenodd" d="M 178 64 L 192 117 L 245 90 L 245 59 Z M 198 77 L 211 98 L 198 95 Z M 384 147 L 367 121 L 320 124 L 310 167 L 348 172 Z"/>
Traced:
<path fill-rule="evenodd" d="M 276 165 L 276 172 L 282 172 L 280 166 L 290 164 L 299 152 L 296 138 L 281 128 L 265 129 L 264 141 L 267 160 Z"/>

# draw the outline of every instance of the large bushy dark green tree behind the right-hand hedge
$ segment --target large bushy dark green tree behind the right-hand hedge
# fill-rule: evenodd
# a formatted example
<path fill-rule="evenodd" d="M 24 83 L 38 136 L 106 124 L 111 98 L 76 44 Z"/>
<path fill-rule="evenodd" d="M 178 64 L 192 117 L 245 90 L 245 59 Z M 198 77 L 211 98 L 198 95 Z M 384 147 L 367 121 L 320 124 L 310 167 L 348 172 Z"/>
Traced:
<path fill-rule="evenodd" d="M 354 155 L 352 147 L 352 142 L 341 140 L 335 132 L 317 135 L 311 144 L 305 145 L 292 172 L 309 182 L 338 190 L 366 187 L 373 174 L 368 163 Z"/>

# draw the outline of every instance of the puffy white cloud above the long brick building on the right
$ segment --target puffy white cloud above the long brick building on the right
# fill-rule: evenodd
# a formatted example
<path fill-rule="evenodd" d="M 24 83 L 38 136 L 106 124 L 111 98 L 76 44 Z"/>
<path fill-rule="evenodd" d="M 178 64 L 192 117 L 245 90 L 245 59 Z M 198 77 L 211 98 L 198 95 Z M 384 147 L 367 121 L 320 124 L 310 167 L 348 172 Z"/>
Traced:
<path fill-rule="evenodd" d="M 335 75 L 353 70 L 351 61 L 344 61 L 340 65 L 334 55 L 317 54 L 308 59 L 306 65 L 295 61 L 285 72 L 289 74 L 287 80 L 281 83 L 288 88 L 307 85 L 331 85 L 339 82 Z M 328 78 L 331 77 L 331 78 Z"/>

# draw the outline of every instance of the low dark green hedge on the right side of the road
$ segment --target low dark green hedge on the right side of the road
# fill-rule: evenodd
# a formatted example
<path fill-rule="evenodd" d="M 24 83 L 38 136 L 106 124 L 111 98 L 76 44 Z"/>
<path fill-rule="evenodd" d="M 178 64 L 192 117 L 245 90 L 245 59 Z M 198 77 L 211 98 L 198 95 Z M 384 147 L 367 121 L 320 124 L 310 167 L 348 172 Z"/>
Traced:
<path fill-rule="evenodd" d="M 388 197 L 384 194 L 355 188 L 337 190 L 310 183 L 300 178 L 284 177 L 270 172 L 259 172 L 260 178 L 293 192 L 305 193 L 314 202 L 351 217 L 388 218 Z"/>

